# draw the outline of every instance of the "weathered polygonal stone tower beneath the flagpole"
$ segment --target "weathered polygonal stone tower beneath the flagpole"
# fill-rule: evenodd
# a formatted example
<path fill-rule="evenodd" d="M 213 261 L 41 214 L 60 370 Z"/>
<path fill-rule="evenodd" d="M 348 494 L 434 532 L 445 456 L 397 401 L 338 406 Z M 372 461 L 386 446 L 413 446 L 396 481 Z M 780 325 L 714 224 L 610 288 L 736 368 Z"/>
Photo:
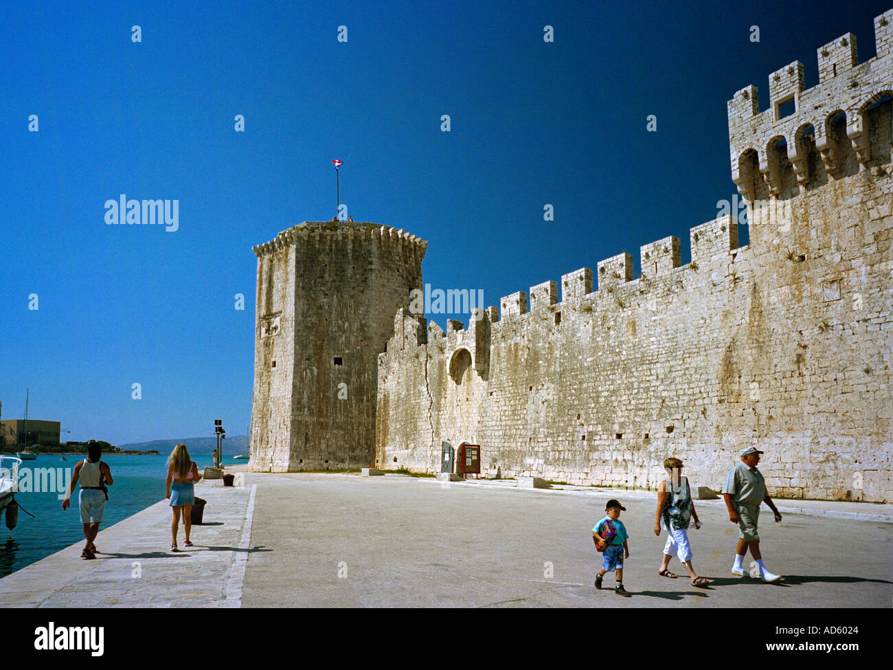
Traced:
<path fill-rule="evenodd" d="M 378 355 L 421 289 L 428 242 L 360 222 L 304 222 L 257 255 L 255 472 L 371 465 Z"/>

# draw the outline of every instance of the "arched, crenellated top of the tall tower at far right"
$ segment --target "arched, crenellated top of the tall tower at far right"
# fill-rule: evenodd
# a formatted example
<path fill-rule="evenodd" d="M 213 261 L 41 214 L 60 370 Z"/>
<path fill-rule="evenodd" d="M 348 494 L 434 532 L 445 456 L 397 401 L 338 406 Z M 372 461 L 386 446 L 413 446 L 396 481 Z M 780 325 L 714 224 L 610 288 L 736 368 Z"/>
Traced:
<path fill-rule="evenodd" d="M 852 33 L 819 47 L 813 88 L 805 89 L 799 61 L 772 72 L 770 106 L 762 113 L 755 86 L 735 93 L 727 105 L 731 173 L 743 197 L 796 195 L 826 179 L 811 165 L 834 178 L 851 153 L 859 171 L 889 162 L 889 147 L 872 151 L 872 140 L 877 145 L 879 136 L 886 144 L 889 135 L 889 128 L 877 127 L 880 119 L 889 123 L 889 113 L 882 116 L 876 103 L 893 95 L 893 9 L 875 18 L 874 42 L 877 55 L 861 64 Z"/>

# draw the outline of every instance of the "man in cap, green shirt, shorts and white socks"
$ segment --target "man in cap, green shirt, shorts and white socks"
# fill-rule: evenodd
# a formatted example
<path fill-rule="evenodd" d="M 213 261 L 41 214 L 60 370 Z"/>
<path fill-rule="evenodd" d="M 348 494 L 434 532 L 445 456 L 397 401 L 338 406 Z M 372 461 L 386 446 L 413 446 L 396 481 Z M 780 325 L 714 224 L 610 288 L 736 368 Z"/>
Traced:
<path fill-rule="evenodd" d="M 781 579 L 781 575 L 772 574 L 763 565 L 760 536 L 756 533 L 756 519 L 760 515 L 761 502 L 769 506 L 776 522 L 781 521 L 780 512 L 766 491 L 763 474 L 756 469 L 762 453 L 755 447 L 741 449 L 741 463 L 726 474 L 725 483 L 722 484 L 722 498 L 725 498 L 726 507 L 729 508 L 729 521 L 738 523 L 740 529 L 738 548 L 735 549 L 735 565 L 732 565 L 731 574 L 740 577 L 745 575 L 741 561 L 744 560 L 747 549 L 750 549 L 750 555 L 759 566 L 760 578 L 764 582 L 775 582 Z"/>

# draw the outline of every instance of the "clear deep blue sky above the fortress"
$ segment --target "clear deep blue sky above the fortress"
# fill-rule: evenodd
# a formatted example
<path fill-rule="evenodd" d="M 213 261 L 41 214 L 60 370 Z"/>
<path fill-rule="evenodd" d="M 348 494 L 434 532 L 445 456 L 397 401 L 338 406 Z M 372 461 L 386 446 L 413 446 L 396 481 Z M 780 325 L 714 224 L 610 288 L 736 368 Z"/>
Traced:
<path fill-rule="evenodd" d="M 121 444 L 245 433 L 251 247 L 334 215 L 331 159 L 356 221 L 428 239 L 425 281 L 488 305 L 623 250 L 638 276 L 668 235 L 687 263 L 735 193 L 726 101 L 765 108 L 794 60 L 814 86 L 847 31 L 872 57 L 893 0 L 70 5 L 0 9 L 0 401 Z M 106 225 L 121 194 L 178 199 L 179 230 Z"/>

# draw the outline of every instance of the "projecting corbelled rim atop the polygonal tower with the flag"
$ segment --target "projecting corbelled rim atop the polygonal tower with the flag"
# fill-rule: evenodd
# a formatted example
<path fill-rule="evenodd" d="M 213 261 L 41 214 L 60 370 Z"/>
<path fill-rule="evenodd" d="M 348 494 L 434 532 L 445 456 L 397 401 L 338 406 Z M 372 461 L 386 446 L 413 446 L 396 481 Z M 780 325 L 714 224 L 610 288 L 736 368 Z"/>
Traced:
<path fill-rule="evenodd" d="M 410 255 L 425 255 L 428 242 L 403 229 L 368 222 L 303 222 L 282 230 L 279 235 L 256 247 L 251 247 L 258 258 L 292 244 L 331 244 L 334 242 L 378 243 L 381 247 L 406 252 Z M 421 258 L 419 259 L 421 261 Z"/>

